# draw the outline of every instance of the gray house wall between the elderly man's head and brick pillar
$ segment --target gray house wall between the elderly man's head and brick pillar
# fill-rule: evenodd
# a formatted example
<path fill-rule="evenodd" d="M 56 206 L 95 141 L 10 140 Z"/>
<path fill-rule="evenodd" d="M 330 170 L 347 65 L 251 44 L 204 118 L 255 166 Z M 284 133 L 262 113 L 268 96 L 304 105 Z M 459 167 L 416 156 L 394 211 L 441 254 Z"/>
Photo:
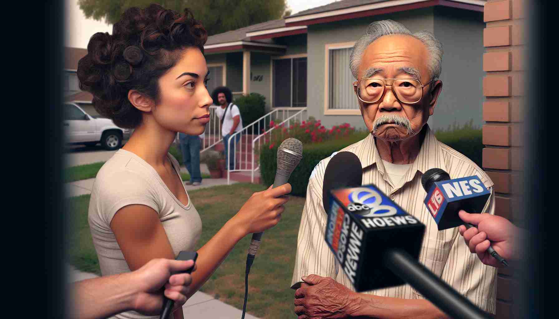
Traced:
<path fill-rule="evenodd" d="M 443 91 L 432 116 L 432 127 L 447 128 L 455 121 L 462 125 L 471 119 L 481 127 L 483 13 L 437 7 L 434 21 L 434 34 L 443 44 L 444 55 L 440 77 Z"/>

